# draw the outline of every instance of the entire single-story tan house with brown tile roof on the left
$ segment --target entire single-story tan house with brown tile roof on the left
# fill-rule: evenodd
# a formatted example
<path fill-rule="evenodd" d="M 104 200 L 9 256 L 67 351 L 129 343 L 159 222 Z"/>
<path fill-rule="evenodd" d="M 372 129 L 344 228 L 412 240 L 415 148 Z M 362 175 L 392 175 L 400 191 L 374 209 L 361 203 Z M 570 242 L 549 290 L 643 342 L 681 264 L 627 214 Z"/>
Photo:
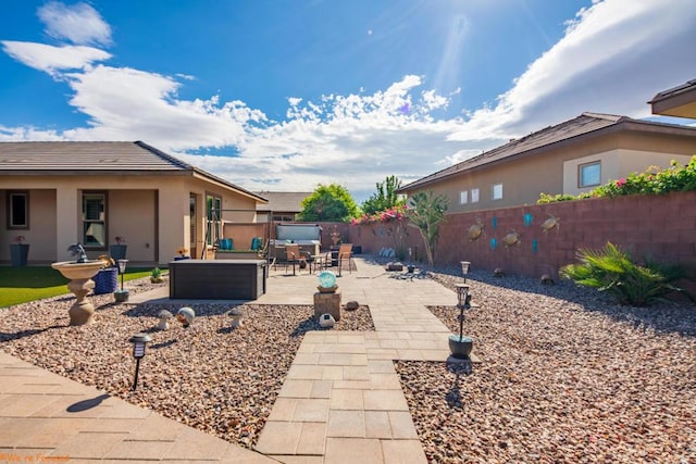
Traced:
<path fill-rule="evenodd" d="M 256 222 L 265 203 L 141 141 L 0 142 L 0 242 L 25 237 L 29 264 L 70 260 L 75 242 L 108 254 L 115 237 L 134 264 L 167 263 L 181 248 L 200 258 L 221 221 Z M 211 209 L 222 217 L 209 221 Z"/>

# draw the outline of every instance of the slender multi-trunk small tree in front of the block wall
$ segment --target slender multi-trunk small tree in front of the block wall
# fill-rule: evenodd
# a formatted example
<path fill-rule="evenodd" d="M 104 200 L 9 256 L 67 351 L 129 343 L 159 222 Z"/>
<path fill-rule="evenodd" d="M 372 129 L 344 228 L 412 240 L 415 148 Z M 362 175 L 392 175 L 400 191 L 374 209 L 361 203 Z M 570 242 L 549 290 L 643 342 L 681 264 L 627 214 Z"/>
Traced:
<path fill-rule="evenodd" d="M 439 238 L 439 225 L 445 221 L 447 203 L 447 197 L 443 195 L 435 197 L 432 190 L 427 193 L 419 191 L 409 199 L 407 216 L 410 223 L 418 227 L 423 237 L 427 263 L 431 266 L 435 263 L 435 247 Z"/>

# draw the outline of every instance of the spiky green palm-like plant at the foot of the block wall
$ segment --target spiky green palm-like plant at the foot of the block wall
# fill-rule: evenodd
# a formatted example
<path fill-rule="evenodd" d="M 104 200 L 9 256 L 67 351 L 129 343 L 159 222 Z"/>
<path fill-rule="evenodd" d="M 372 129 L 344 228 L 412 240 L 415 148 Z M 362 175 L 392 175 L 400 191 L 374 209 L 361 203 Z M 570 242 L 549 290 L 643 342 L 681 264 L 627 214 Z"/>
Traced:
<path fill-rule="evenodd" d="M 684 278 L 686 271 L 681 265 L 664 265 L 646 260 L 636 264 L 627 251 L 611 242 L 599 251 L 577 251 L 580 264 L 569 264 L 559 269 L 561 277 L 576 284 L 611 293 L 620 304 L 646 306 L 670 292 L 678 291 L 693 298 L 673 283 Z"/>

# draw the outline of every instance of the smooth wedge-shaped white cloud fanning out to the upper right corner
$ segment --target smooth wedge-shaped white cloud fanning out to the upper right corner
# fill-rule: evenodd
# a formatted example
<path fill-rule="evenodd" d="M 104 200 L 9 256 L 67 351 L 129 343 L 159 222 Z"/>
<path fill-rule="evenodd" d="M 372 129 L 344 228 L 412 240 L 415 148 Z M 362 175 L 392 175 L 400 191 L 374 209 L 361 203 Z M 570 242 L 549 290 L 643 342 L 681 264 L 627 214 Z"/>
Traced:
<path fill-rule="evenodd" d="M 496 105 L 471 114 L 450 140 L 511 137 L 584 111 L 646 117 L 656 92 L 696 75 L 696 2 L 597 1 L 533 62 Z"/>

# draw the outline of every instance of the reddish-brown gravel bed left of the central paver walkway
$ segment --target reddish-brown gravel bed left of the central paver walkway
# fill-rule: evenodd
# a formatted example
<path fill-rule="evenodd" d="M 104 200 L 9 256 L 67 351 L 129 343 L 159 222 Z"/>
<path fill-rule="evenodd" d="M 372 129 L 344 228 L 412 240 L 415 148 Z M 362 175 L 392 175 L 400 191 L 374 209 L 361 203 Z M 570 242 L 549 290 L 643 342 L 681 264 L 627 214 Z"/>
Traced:
<path fill-rule="evenodd" d="M 152 288 L 148 278 L 128 283 L 132 293 Z M 194 324 L 173 321 L 152 330 L 162 309 L 179 305 L 116 304 L 111 294 L 90 296 L 97 321 L 70 327 L 72 296 L 0 310 L 0 349 L 29 363 L 96 386 L 126 401 L 252 447 L 263 428 L 302 336 L 319 330 L 311 305 L 244 304 L 244 326 L 231 328 L 233 306 L 195 304 Z M 334 330 L 374 330 L 370 311 L 343 311 Z M 136 391 L 133 346 L 138 331 L 152 336 Z"/>

